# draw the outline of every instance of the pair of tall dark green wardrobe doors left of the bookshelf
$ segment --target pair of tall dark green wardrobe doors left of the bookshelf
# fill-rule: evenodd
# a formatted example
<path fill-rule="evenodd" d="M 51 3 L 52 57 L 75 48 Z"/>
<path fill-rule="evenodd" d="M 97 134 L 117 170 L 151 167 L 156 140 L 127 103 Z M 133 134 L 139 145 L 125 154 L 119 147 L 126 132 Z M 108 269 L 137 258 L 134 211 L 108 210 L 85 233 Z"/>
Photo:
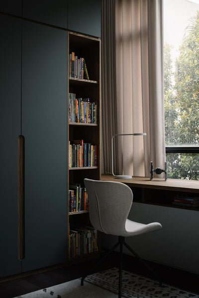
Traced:
<path fill-rule="evenodd" d="M 6 276 L 67 261 L 67 32 L 0 20 L 0 276 Z M 18 206 L 19 135 L 24 204 Z"/>

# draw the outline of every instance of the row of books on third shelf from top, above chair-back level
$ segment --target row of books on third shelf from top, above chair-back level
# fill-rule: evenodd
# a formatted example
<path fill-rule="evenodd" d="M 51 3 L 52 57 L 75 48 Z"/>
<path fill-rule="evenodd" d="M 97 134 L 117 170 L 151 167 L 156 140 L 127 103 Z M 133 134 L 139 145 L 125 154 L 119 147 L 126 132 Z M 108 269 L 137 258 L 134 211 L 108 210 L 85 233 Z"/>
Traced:
<path fill-rule="evenodd" d="M 69 167 L 97 166 L 97 145 L 84 140 L 69 141 Z"/>

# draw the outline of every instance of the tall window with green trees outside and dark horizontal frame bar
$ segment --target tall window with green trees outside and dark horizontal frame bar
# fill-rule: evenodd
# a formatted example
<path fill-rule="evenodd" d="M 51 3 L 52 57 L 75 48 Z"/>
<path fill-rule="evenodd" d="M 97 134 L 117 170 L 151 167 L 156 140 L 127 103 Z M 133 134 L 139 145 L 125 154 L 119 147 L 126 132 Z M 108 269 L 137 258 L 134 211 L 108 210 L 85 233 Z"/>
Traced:
<path fill-rule="evenodd" d="M 199 180 L 199 0 L 164 0 L 169 178 Z"/>

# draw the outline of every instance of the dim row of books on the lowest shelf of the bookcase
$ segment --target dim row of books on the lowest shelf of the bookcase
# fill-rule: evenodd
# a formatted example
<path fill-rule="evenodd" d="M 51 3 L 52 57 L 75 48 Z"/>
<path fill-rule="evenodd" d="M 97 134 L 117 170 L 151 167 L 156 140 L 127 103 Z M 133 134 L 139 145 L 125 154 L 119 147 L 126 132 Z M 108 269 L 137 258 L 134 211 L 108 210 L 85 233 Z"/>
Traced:
<path fill-rule="evenodd" d="M 92 226 L 73 226 L 69 231 L 70 258 L 98 251 L 99 232 Z"/>

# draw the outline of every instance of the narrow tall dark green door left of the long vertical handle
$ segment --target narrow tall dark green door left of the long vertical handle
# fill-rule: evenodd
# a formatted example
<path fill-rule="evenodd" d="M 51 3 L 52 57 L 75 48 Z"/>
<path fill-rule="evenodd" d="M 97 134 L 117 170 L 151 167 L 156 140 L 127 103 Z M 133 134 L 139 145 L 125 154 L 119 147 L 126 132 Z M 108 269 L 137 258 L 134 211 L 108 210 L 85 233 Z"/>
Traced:
<path fill-rule="evenodd" d="M 17 257 L 17 137 L 21 111 L 21 21 L 0 15 L 0 277 Z"/>

